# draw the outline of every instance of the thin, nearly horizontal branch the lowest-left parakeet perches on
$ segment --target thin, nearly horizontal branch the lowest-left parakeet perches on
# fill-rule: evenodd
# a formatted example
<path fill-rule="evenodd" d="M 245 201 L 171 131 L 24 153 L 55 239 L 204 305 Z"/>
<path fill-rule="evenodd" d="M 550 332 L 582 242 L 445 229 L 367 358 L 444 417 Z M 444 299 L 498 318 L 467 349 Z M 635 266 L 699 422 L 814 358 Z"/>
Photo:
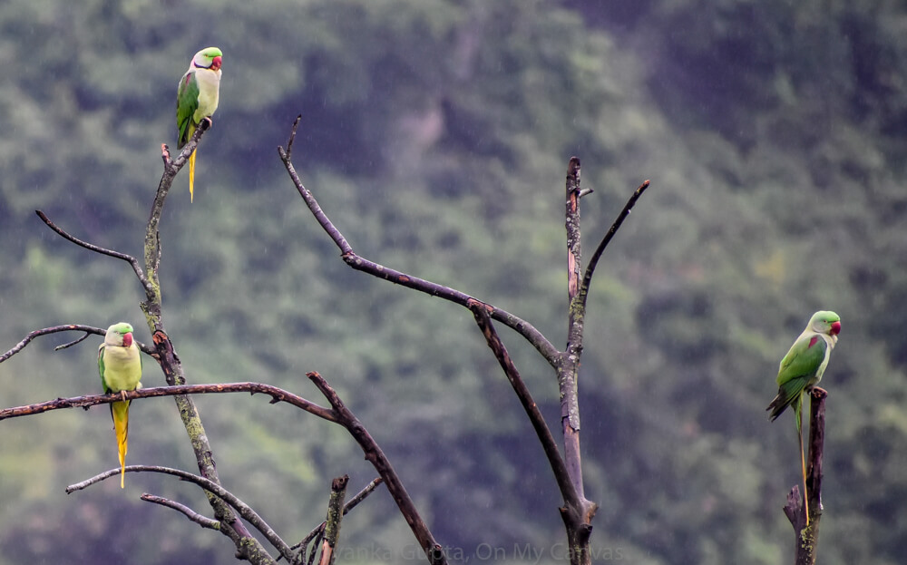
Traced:
<path fill-rule="evenodd" d="M 135 400 L 137 398 L 151 398 L 158 396 L 175 396 L 175 395 L 208 395 L 223 393 L 250 393 L 252 395 L 262 394 L 271 397 L 270 404 L 285 402 L 292 404 L 309 414 L 314 414 L 328 422 L 339 424 L 336 413 L 330 408 L 325 408 L 313 402 L 307 401 L 302 396 L 289 393 L 277 386 L 265 385 L 263 383 L 224 383 L 214 385 L 176 385 L 160 386 L 155 388 L 141 388 L 139 390 L 115 393 L 112 395 L 85 395 L 73 396 L 71 398 L 57 398 L 38 404 L 28 404 L 24 406 L 15 406 L 14 408 L 5 408 L 0 410 L 0 420 L 7 418 L 17 418 L 20 416 L 30 416 L 33 414 L 42 414 L 51 410 L 62 408 L 88 408 L 96 404 L 109 404 L 122 400 Z"/>

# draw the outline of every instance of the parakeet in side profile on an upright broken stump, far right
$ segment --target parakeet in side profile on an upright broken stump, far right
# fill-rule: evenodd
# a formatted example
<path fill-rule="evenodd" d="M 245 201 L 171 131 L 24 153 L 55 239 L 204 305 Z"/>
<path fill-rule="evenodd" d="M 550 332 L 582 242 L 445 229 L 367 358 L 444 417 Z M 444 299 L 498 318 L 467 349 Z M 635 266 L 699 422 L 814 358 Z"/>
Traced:
<path fill-rule="evenodd" d="M 806 503 L 806 461 L 803 451 L 803 395 L 822 380 L 828 359 L 832 356 L 834 344 L 841 331 L 841 317 L 834 312 L 821 310 L 809 318 L 809 324 L 796 338 L 794 345 L 781 360 L 778 368 L 778 395 L 766 410 L 771 410 L 772 422 L 794 406 L 796 434 L 800 442 L 800 468 L 803 472 L 803 496 L 806 511 L 806 525 L 809 525 L 809 508 Z"/>

